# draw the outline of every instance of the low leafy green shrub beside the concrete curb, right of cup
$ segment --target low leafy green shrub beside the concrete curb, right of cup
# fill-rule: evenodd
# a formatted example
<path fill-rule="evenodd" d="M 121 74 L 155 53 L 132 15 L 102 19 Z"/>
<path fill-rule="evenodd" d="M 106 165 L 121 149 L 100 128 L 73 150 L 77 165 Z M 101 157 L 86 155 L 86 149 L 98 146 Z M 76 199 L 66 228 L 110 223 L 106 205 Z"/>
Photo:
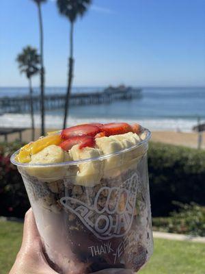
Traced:
<path fill-rule="evenodd" d="M 205 207 L 197 203 L 182 204 L 179 212 L 172 212 L 170 217 L 155 217 L 152 219 L 153 229 L 161 232 L 191 234 L 205 236 Z"/>

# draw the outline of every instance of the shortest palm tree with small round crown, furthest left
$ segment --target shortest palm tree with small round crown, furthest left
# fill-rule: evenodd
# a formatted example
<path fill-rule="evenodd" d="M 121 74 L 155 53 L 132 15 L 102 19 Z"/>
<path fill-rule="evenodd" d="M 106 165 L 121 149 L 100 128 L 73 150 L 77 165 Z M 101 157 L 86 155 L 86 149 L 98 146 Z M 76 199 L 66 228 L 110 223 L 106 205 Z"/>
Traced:
<path fill-rule="evenodd" d="M 40 55 L 37 53 L 37 49 L 27 46 L 21 53 L 17 55 L 16 61 L 18 62 L 18 68 L 20 73 L 25 73 L 29 80 L 29 96 L 30 96 L 30 110 L 31 110 L 31 140 L 35 138 L 34 132 L 34 118 L 33 118 L 33 88 L 31 77 L 40 71 Z"/>

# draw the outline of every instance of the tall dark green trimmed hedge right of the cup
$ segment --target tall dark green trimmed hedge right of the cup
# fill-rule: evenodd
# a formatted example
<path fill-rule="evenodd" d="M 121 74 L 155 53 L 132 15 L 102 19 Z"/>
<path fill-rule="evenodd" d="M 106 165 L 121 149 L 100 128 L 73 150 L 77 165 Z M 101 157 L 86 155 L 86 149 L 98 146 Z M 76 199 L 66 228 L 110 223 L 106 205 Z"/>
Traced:
<path fill-rule="evenodd" d="M 205 151 L 151 142 L 148 169 L 153 216 L 176 210 L 172 201 L 205 205 Z"/>

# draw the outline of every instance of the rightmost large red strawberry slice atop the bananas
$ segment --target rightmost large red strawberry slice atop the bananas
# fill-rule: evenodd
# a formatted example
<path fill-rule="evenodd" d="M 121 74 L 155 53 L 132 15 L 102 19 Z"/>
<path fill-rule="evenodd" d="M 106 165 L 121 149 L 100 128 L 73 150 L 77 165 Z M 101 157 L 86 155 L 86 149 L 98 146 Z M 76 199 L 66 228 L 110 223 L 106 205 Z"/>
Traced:
<path fill-rule="evenodd" d="M 131 125 L 128 125 L 128 123 L 109 123 L 102 125 L 100 129 L 105 132 L 106 136 L 133 132 Z"/>

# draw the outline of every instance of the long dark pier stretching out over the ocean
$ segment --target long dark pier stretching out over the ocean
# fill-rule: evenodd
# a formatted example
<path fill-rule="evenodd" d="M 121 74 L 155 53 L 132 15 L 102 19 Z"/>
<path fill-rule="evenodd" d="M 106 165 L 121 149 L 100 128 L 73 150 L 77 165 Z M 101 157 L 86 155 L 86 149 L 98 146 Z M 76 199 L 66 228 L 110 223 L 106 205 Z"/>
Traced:
<path fill-rule="evenodd" d="M 111 103 L 113 101 L 131 100 L 141 97 L 140 88 L 107 88 L 102 92 L 75 93 L 70 95 L 70 106 L 96 105 Z M 45 95 L 45 110 L 58 110 L 64 108 L 66 95 Z M 1 113 L 26 113 L 30 111 L 29 96 L 1 97 Z M 33 96 L 33 110 L 40 110 L 40 96 Z"/>

